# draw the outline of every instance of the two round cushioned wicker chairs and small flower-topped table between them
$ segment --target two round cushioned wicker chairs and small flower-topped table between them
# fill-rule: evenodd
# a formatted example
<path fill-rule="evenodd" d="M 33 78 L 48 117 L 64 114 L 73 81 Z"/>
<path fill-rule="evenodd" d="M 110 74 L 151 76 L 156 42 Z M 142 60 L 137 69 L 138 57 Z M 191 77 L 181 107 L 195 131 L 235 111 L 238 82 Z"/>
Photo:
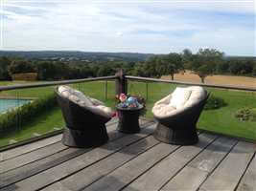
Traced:
<path fill-rule="evenodd" d="M 109 107 L 69 86 L 59 86 L 55 92 L 66 123 L 63 144 L 94 147 L 108 140 L 105 123 L 113 116 Z M 177 87 L 172 94 L 157 101 L 152 108 L 157 121 L 153 137 L 179 145 L 197 143 L 196 123 L 208 97 L 209 94 L 199 86 Z M 122 133 L 138 133 L 138 119 L 143 107 L 132 97 L 124 102 L 121 100 L 116 106 L 119 117 L 117 129 Z"/>

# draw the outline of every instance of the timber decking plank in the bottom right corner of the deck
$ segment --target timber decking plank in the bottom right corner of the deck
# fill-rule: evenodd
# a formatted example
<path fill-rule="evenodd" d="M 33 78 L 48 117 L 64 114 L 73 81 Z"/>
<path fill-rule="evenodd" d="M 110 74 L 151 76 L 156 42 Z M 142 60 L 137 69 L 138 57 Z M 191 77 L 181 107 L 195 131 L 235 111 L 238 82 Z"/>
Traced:
<path fill-rule="evenodd" d="M 250 162 L 247 171 L 241 180 L 237 191 L 255 191 L 256 190 L 256 156 Z"/>

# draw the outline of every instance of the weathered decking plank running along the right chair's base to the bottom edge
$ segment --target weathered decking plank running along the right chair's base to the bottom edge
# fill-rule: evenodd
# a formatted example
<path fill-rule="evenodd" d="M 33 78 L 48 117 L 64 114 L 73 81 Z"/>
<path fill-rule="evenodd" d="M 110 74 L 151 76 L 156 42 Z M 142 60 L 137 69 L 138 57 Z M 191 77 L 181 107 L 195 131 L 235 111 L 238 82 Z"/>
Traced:
<path fill-rule="evenodd" d="M 213 135 L 199 135 L 198 144 L 183 146 L 177 149 L 166 159 L 153 166 L 148 172 L 131 182 L 124 190 L 158 190 L 168 180 L 186 165 L 191 159 L 195 158 L 202 149 L 209 145 L 214 139 Z"/>

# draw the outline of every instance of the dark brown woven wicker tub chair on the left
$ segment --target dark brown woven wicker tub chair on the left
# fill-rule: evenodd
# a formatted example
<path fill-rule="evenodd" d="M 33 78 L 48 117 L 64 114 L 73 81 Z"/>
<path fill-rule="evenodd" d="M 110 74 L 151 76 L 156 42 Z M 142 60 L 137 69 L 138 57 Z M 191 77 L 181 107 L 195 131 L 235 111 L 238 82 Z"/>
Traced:
<path fill-rule="evenodd" d="M 69 93 L 75 91 L 67 86 L 65 88 Z M 78 99 L 74 100 L 72 96 L 63 96 L 58 88 L 55 92 L 66 123 L 62 137 L 63 144 L 72 147 L 93 147 L 102 145 L 108 140 L 105 123 L 111 119 L 111 115 L 95 109 L 94 105 L 87 106 L 84 101 L 78 102 Z M 76 91 L 76 93 L 80 92 Z M 99 104 L 103 106 L 103 103 L 97 99 L 90 98 L 90 101 L 97 103 L 96 106 Z"/>

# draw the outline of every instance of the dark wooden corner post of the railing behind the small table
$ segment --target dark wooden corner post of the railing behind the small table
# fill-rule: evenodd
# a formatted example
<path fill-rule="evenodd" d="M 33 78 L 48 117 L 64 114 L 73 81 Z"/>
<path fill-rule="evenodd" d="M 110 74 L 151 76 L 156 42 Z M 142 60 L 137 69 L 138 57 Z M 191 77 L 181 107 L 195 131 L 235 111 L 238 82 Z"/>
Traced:
<path fill-rule="evenodd" d="M 128 93 L 128 80 L 126 78 L 126 74 L 124 73 L 123 69 L 118 71 L 116 74 L 117 76 L 115 80 L 115 89 L 116 89 L 116 95 L 120 94 L 127 94 Z"/>

